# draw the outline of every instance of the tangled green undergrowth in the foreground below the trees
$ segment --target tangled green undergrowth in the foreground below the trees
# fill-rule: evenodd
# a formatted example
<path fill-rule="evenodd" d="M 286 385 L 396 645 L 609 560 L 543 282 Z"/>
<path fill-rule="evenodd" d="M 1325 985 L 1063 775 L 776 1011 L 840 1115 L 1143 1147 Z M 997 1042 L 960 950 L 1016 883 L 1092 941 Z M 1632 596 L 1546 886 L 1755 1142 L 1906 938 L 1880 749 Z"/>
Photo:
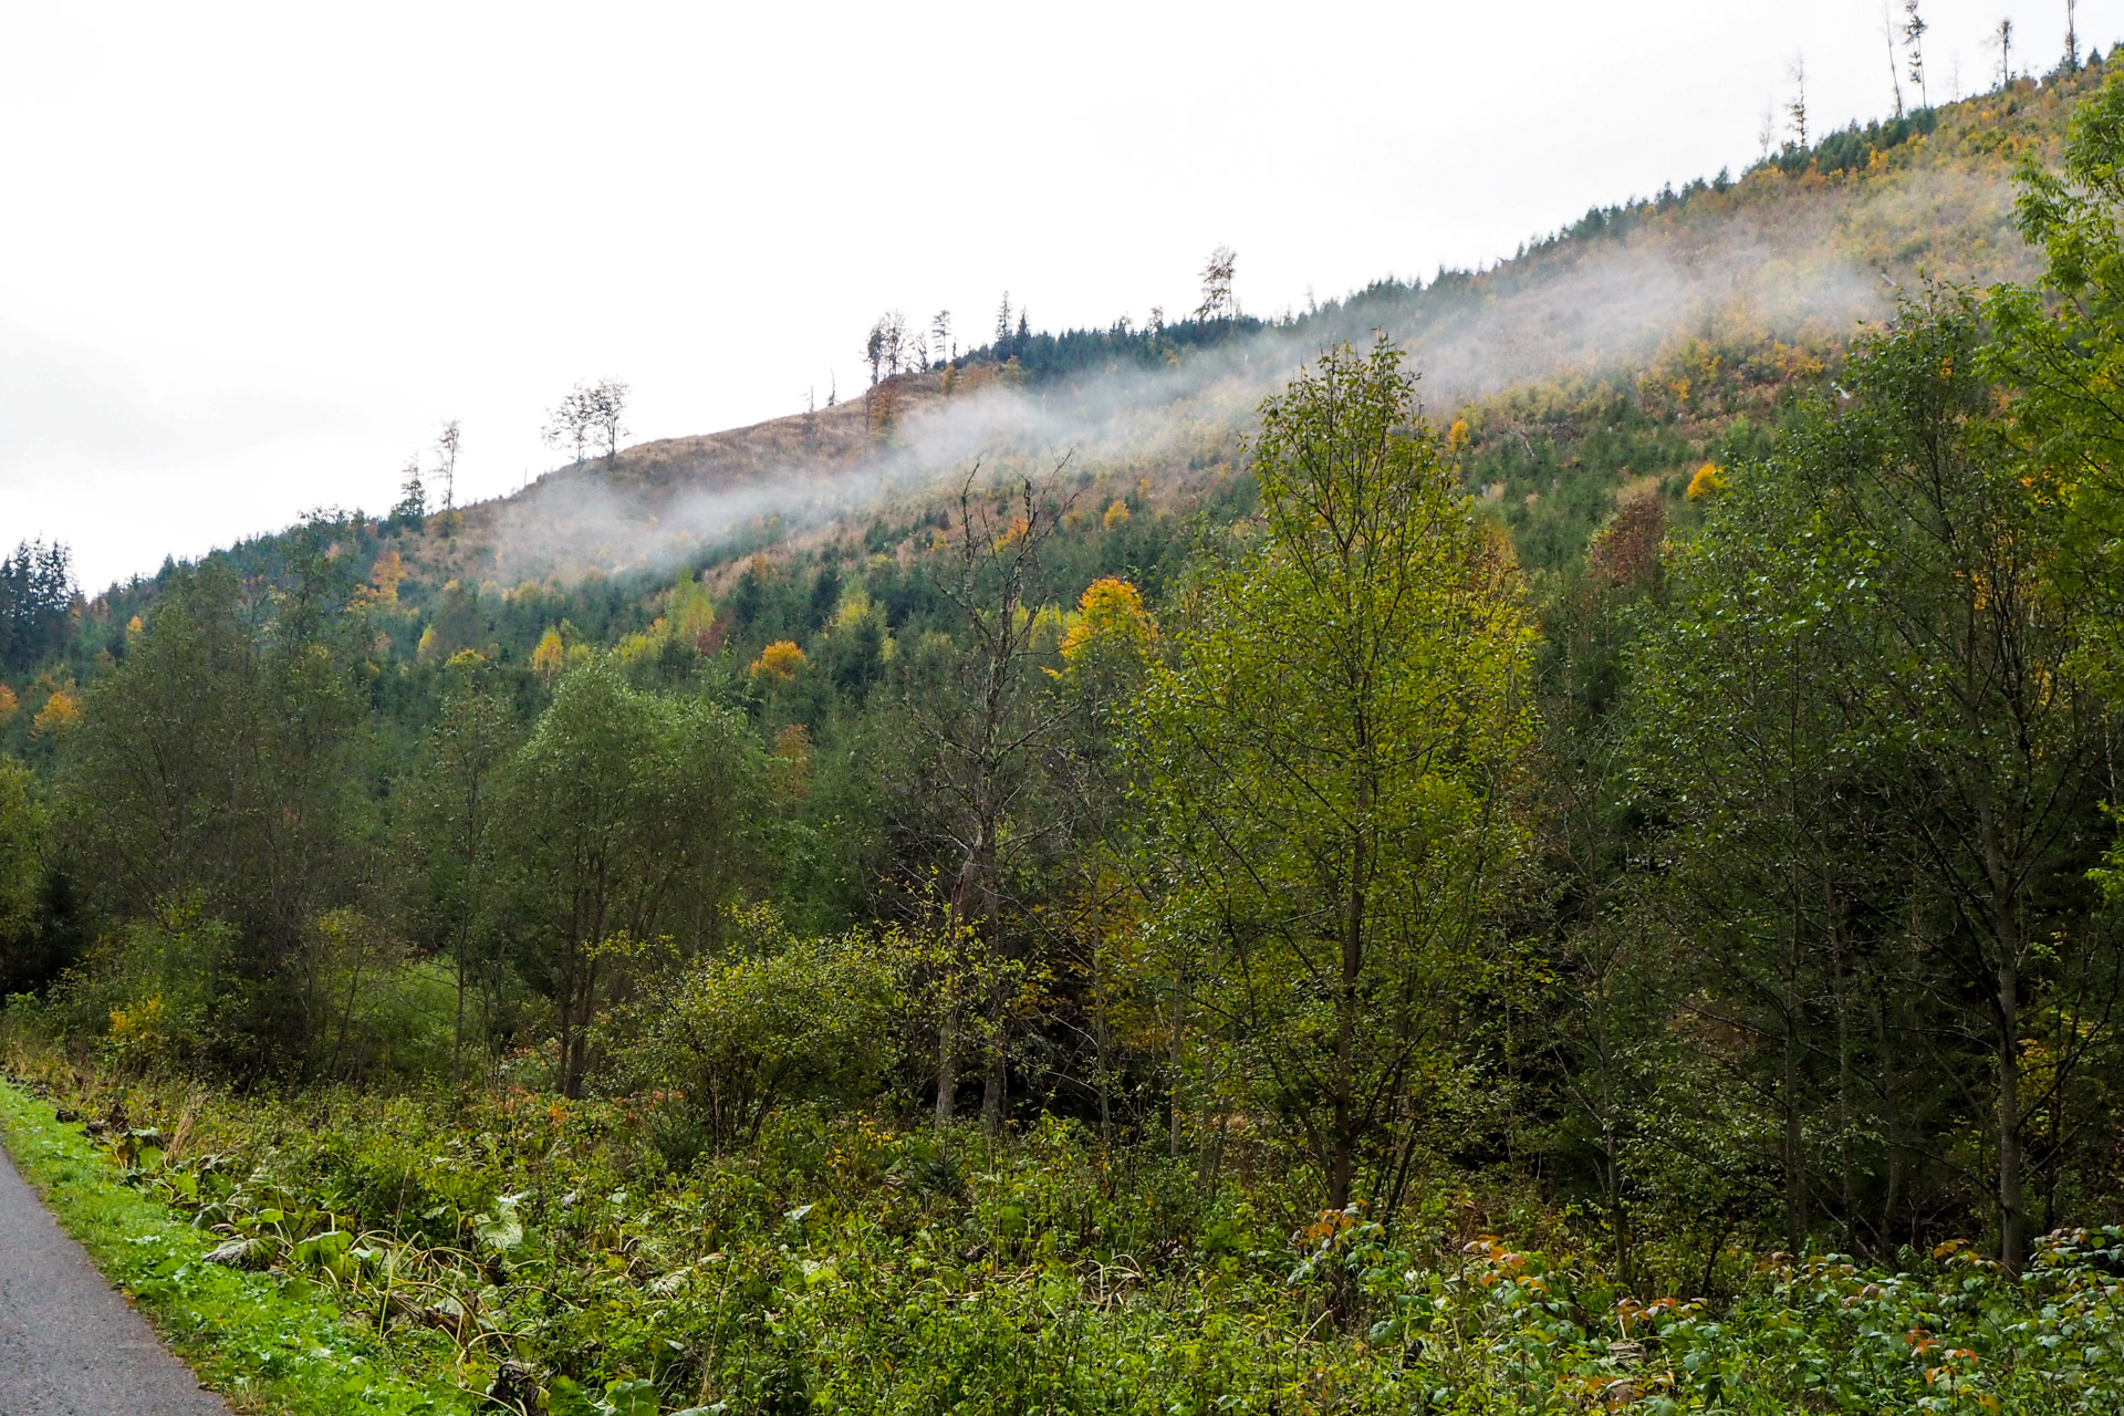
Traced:
<path fill-rule="evenodd" d="M 17 1028 L 17 1085 L 87 1117 L 104 1185 L 195 1242 L 151 1301 L 263 1276 L 469 1405 L 714 1412 L 2113 1412 L 2124 1231 L 1676 1255 L 1650 1299 L 1531 1195 L 1425 1187 L 1395 1231 L 1296 1212 L 1274 1174 L 1041 1123 L 988 1140 L 790 1110 L 673 1170 L 639 1110 L 529 1091 L 240 1100 L 76 1072 Z M 49 1127 L 6 1102 L 11 1144 Z M 49 1117 L 49 1112 L 42 1112 Z M 74 1144 L 76 1151 L 85 1146 Z M 1548 1236 L 1521 1248 L 1495 1231 Z M 123 1248 L 123 1246 L 121 1246 Z M 181 1261 L 178 1261 L 181 1259 Z M 363 1346 L 374 1344 L 374 1346 Z M 242 1361 L 223 1354 L 223 1361 Z M 289 1357 L 272 1359 L 274 1374 Z M 336 1359 L 338 1361 L 338 1359 Z M 340 1386 L 331 1386 L 340 1391 Z M 361 1410 L 361 1408 L 355 1408 Z M 399 1408 L 378 1408 L 399 1410 Z"/>

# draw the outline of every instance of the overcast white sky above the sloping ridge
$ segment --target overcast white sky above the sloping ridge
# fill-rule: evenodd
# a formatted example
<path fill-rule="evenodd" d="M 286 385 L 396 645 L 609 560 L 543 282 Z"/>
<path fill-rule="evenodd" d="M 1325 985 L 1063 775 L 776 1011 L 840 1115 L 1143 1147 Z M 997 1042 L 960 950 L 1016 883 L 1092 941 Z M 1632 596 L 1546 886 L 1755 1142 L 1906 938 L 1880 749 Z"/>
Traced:
<path fill-rule="evenodd" d="M 1924 15 L 1935 100 L 2001 15 L 2062 51 L 2065 0 Z M 1880 0 L 6 0 L 0 541 L 93 590 L 382 510 L 452 416 L 489 497 L 578 378 L 637 439 L 754 422 L 858 388 L 881 310 L 1141 321 L 1219 242 L 1257 314 L 1491 261 L 1744 168 L 1793 55 L 1816 127 L 1890 108 Z"/>

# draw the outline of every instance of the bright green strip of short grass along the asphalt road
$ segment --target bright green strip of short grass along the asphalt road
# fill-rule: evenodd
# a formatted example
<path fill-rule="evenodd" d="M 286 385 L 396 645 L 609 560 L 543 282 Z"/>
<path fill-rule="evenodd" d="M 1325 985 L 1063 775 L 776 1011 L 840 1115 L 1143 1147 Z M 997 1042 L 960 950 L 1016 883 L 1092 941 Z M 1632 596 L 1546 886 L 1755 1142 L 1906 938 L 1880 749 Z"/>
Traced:
<path fill-rule="evenodd" d="M 206 1263 L 210 1240 L 130 1189 L 53 1108 L 0 1083 L 0 1140 L 21 1176 L 110 1282 L 147 1312 L 200 1380 L 244 1412 L 414 1416 L 469 1410 L 340 1323 L 302 1278 Z"/>

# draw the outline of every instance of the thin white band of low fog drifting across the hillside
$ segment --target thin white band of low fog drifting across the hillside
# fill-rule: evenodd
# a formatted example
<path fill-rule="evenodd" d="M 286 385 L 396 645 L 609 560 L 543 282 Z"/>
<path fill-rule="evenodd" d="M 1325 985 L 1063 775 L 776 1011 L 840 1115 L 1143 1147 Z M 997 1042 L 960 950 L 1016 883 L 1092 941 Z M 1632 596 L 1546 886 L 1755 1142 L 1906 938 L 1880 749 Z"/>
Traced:
<path fill-rule="evenodd" d="M 1884 318 L 1897 284 L 1922 274 L 1924 251 L 1907 240 L 1892 263 L 1858 255 L 1882 231 L 1922 231 L 1952 212 L 1956 223 L 2003 236 L 1990 276 L 2022 274 L 2009 197 L 2003 183 L 1946 178 L 1858 200 L 1786 202 L 1776 223 L 1746 206 L 1646 223 L 1480 276 L 1351 299 L 1251 340 L 1192 350 L 1172 369 L 1083 372 L 1034 388 L 988 384 L 930 397 L 881 442 L 724 450 L 714 476 L 688 476 L 678 456 L 654 478 L 629 478 L 644 454 L 637 448 L 612 476 L 569 469 L 495 507 L 495 569 L 501 580 L 656 569 L 739 533 L 760 535 L 763 518 L 782 518 L 786 529 L 820 524 L 894 493 L 956 486 L 975 465 L 1041 471 L 1066 456 L 1077 471 L 1160 478 L 1202 450 L 1228 450 L 1260 401 L 1304 363 L 1344 340 L 1368 344 L 1374 331 L 1406 350 L 1434 414 L 1542 378 L 1640 369 L 1691 338 L 1839 342 Z M 828 416 L 845 429 L 860 410 Z"/>

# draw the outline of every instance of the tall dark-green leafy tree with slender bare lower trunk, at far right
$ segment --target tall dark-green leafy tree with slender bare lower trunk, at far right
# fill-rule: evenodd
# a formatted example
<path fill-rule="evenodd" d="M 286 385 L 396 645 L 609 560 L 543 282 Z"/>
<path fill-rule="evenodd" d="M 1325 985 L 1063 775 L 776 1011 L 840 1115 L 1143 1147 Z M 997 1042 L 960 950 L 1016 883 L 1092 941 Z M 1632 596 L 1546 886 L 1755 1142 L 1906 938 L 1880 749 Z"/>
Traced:
<path fill-rule="evenodd" d="M 1814 408 L 1746 488 L 1735 480 L 1678 573 L 1689 597 L 1667 643 L 1697 645 L 1646 671 L 1678 694 L 1669 758 L 1710 754 L 1686 783 L 1735 760 L 1708 741 L 1718 724 L 1750 730 L 1735 701 L 1767 707 L 1765 728 L 1803 724 L 1759 754 L 1776 773 L 1742 788 L 1757 796 L 1748 815 L 1774 813 L 1791 836 L 1769 858 L 1795 883 L 1754 896 L 1795 915 L 1795 947 L 1810 934 L 1835 947 L 1852 904 L 1882 898 L 1869 853 L 1907 873 L 1907 928 L 1960 1000 L 1963 1032 L 1988 1038 L 1992 1195 L 2001 1257 L 2018 1270 L 2031 1106 L 2058 1100 L 2086 1055 L 2082 1023 L 2109 1006 L 2086 873 L 2116 724 L 2084 673 L 2084 607 L 2050 582 L 2062 488 L 2005 435 L 1980 340 L 1975 314 L 1939 299 L 1863 346 L 1850 405 Z M 1782 679 L 1767 698 L 1746 681 L 1765 669 L 1750 645 Z M 1710 732 L 1695 735 L 1693 715 Z M 1871 841 L 1854 839 L 1856 815 L 1873 817 Z M 1812 923 L 1797 917 L 1805 896 Z M 2056 1066 L 2031 1098 L 2026 1053 L 2045 1015 L 2073 1021 L 2048 1038 Z"/>

